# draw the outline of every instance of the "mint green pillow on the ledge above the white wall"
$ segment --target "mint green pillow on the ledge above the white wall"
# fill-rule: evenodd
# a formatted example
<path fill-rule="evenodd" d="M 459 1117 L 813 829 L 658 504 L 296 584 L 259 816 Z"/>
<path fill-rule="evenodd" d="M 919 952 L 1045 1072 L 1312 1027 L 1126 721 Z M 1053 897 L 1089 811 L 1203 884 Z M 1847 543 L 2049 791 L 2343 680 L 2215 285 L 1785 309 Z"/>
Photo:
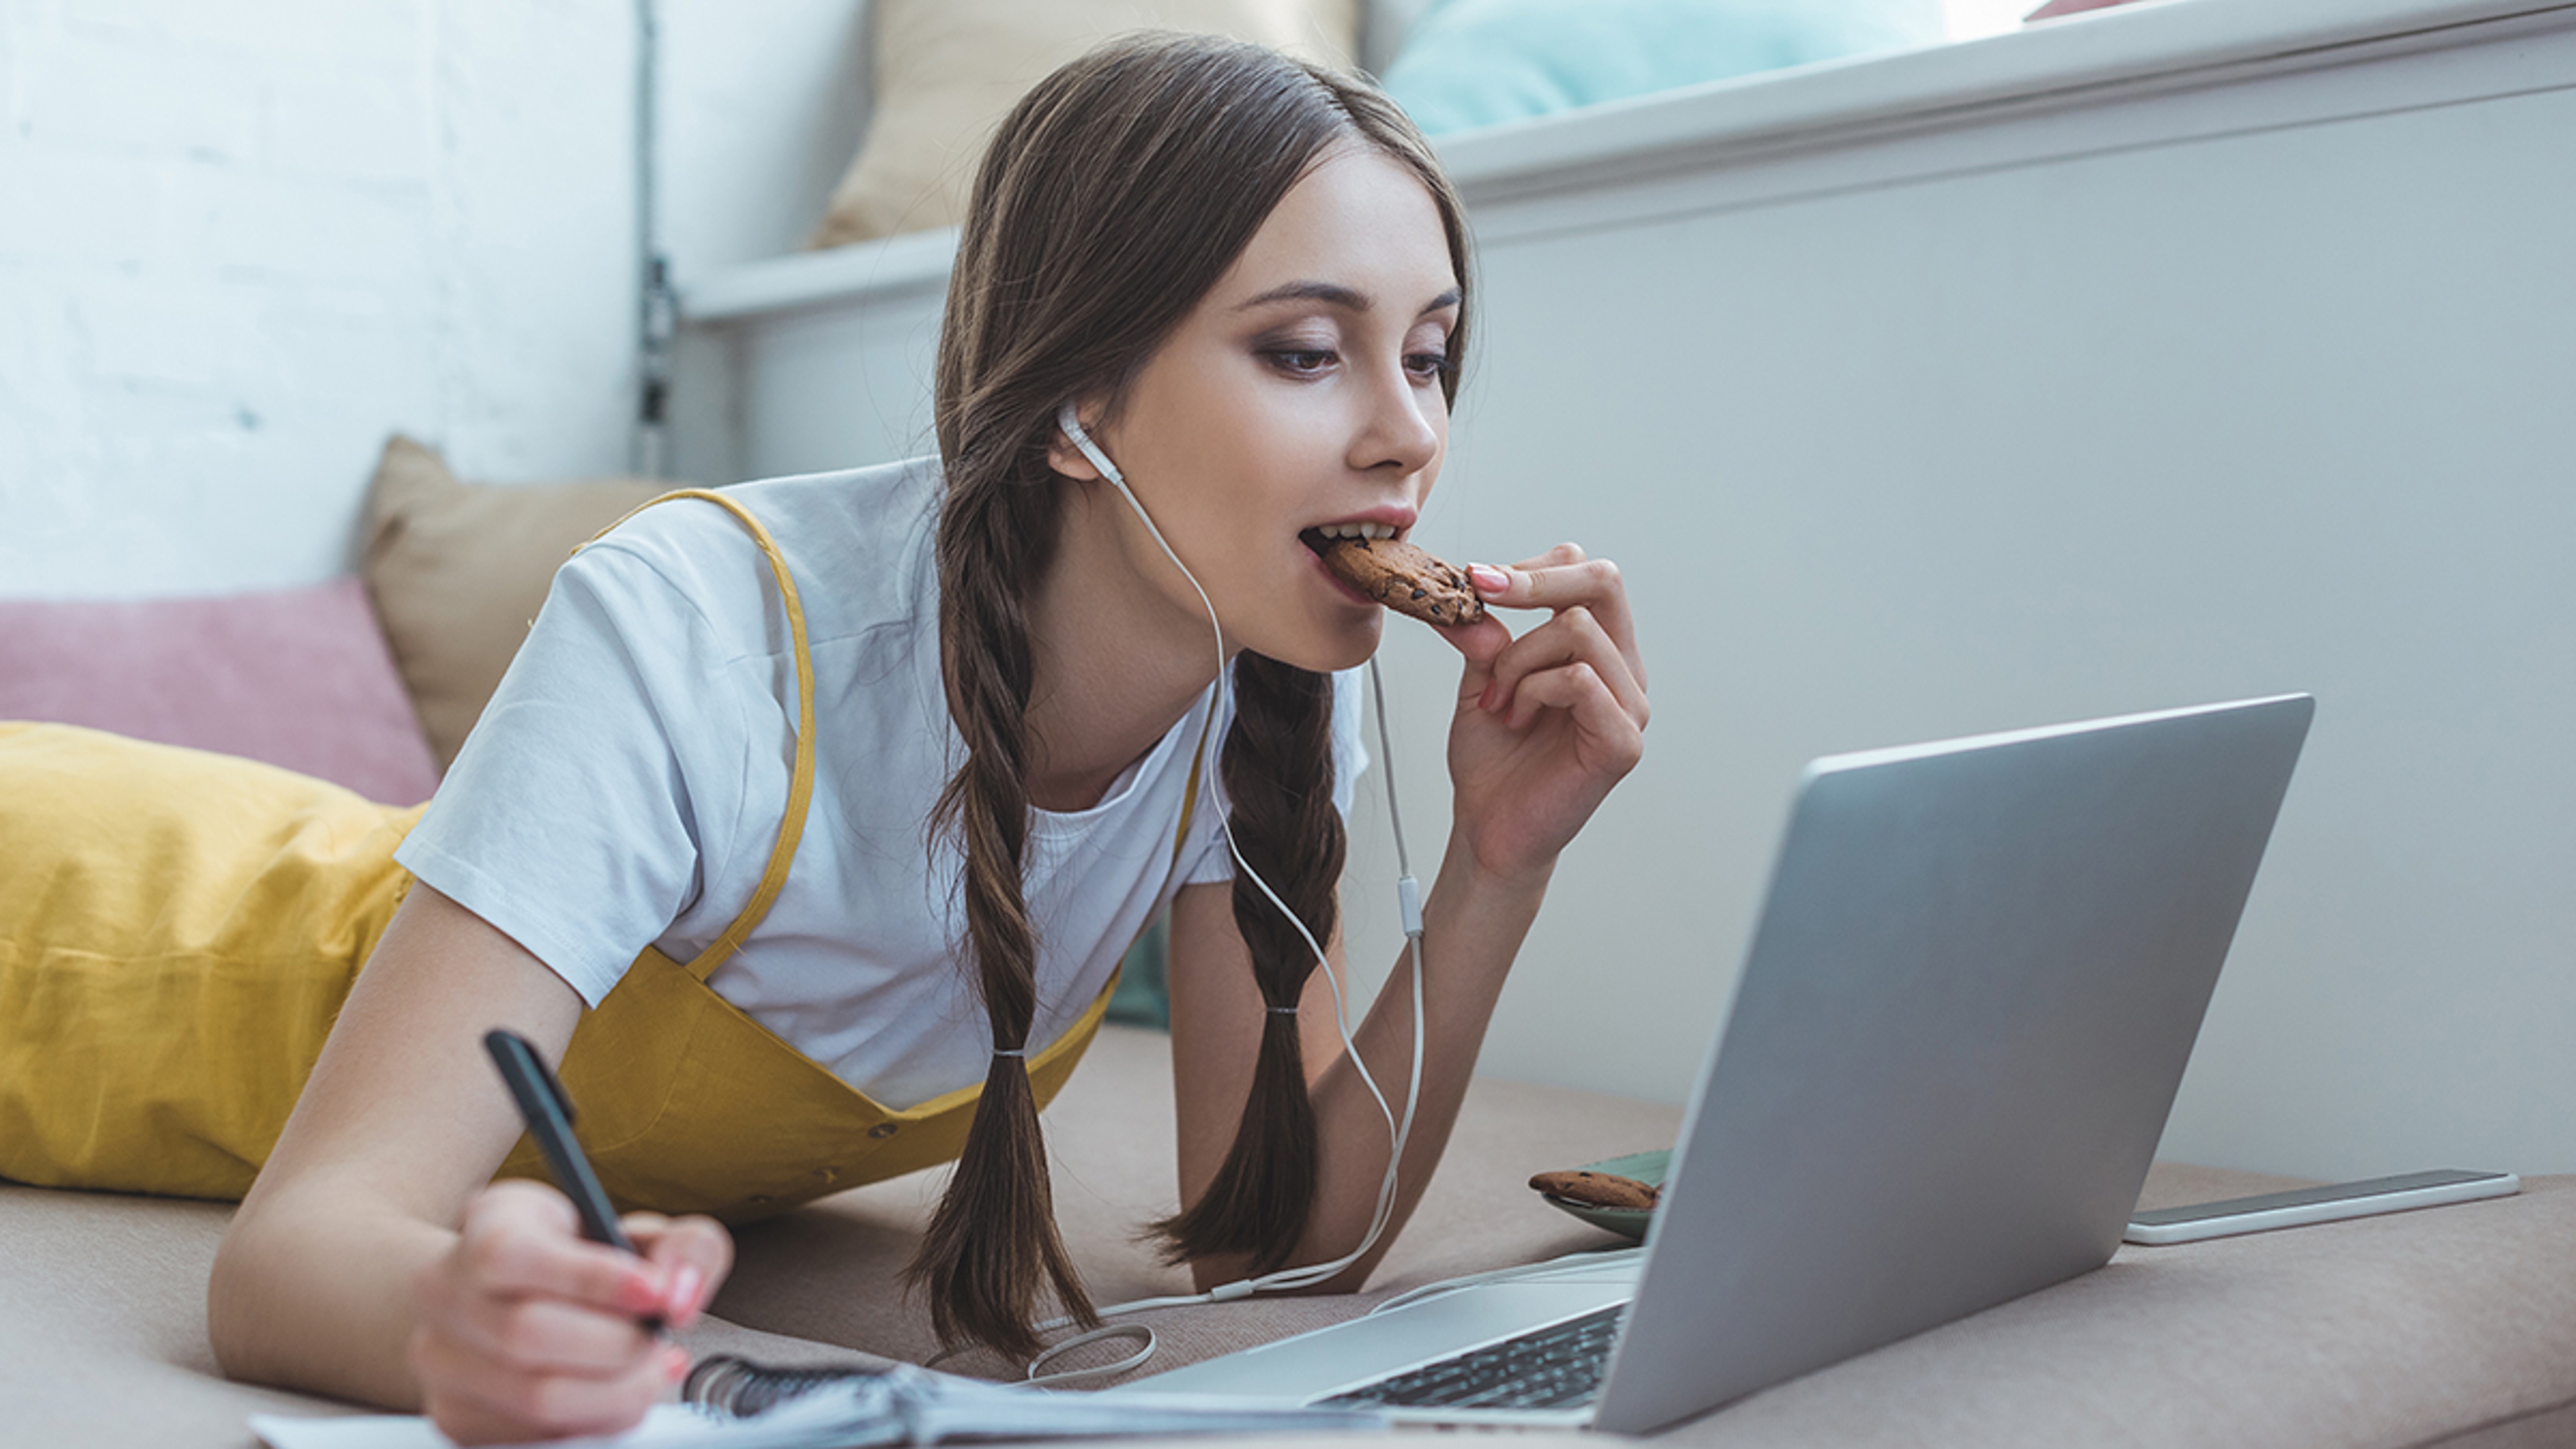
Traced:
<path fill-rule="evenodd" d="M 1440 0 L 1386 93 L 1437 137 L 1940 39 L 1940 0 Z"/>

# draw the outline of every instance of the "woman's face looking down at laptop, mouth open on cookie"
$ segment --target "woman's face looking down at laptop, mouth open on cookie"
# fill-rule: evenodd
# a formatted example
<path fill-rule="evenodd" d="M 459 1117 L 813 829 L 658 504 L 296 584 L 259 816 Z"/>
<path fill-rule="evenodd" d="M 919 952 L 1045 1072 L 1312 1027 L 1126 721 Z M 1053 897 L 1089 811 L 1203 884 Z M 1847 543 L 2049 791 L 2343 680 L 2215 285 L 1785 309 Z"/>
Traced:
<path fill-rule="evenodd" d="M 1226 647 L 1311 670 L 1378 647 L 1386 611 L 1324 572 L 1321 529 L 1404 536 L 1448 454 L 1458 276 L 1430 191 L 1368 147 L 1332 152 L 1270 211 L 1234 268 L 1084 425 L 1216 603 Z M 1059 441 L 1059 472 L 1097 477 Z M 1108 485 L 1082 513 L 1131 580 L 1206 629 L 1188 580 Z"/>

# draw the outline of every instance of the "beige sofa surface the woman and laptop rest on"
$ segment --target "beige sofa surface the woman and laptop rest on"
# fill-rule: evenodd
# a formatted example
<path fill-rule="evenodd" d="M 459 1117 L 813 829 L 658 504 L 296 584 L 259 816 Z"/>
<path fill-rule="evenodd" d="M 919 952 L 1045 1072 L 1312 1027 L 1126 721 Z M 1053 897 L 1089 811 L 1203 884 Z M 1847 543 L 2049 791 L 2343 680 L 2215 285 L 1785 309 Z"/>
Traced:
<path fill-rule="evenodd" d="M 1360 1297 L 1151 1315 L 1151 1369 L 1365 1310 L 1430 1279 L 1605 1243 L 1528 1191 L 1540 1168 L 1656 1147 L 1674 1109 L 1481 1080 L 1448 1163 Z M 1133 1240 L 1170 1204 L 1170 1049 L 1113 1026 L 1048 1111 L 1056 1207 L 1103 1302 L 1180 1287 Z M 2159 1165 L 2146 1196 L 2285 1178 Z M 935 1176 L 878 1183 L 742 1232 L 693 1348 L 775 1361 L 930 1351 L 894 1287 Z M 227 1209 L 0 1186 L 0 1444 L 247 1444 L 245 1415 L 345 1413 L 224 1382 L 204 1281 Z M 1754 1307 L 1757 1310 L 1757 1307 Z M 842 1348 L 845 1346 L 845 1348 Z M 989 1359 L 961 1366 L 997 1372 Z M 1564 1439 L 1548 1434 L 1540 1439 Z M 2097 1274 L 1752 1395 L 1662 1439 L 1685 1446 L 2576 1444 L 2576 1178 L 2522 1196 L 2184 1248 Z"/>

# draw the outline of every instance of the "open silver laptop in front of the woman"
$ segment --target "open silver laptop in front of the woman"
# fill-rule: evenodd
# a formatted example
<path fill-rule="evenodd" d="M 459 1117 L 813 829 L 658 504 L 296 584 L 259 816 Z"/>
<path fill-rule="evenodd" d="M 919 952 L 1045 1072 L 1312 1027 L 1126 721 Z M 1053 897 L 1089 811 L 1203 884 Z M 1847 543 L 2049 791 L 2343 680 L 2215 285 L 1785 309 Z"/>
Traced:
<path fill-rule="evenodd" d="M 1811 763 L 1643 1253 L 1108 1392 L 1646 1434 L 2099 1269 L 2313 709 Z"/>

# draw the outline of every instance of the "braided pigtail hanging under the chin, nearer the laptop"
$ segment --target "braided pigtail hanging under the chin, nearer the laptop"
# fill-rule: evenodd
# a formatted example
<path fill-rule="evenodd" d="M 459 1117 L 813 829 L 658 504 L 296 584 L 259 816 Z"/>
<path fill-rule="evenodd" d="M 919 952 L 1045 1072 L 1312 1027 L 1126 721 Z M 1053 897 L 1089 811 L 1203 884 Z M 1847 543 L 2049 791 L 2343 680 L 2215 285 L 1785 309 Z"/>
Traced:
<path fill-rule="evenodd" d="M 1234 727 L 1224 750 L 1234 843 L 1316 944 L 1332 938 L 1342 879 L 1342 812 L 1332 804 L 1332 676 L 1262 655 L 1234 660 Z M 1249 1256 L 1255 1274 L 1288 1263 L 1314 1212 L 1316 1132 L 1296 1006 L 1316 959 L 1247 871 L 1234 926 L 1262 987 L 1262 1049 L 1234 1147 L 1195 1204 L 1154 1225 L 1164 1258 Z"/>

